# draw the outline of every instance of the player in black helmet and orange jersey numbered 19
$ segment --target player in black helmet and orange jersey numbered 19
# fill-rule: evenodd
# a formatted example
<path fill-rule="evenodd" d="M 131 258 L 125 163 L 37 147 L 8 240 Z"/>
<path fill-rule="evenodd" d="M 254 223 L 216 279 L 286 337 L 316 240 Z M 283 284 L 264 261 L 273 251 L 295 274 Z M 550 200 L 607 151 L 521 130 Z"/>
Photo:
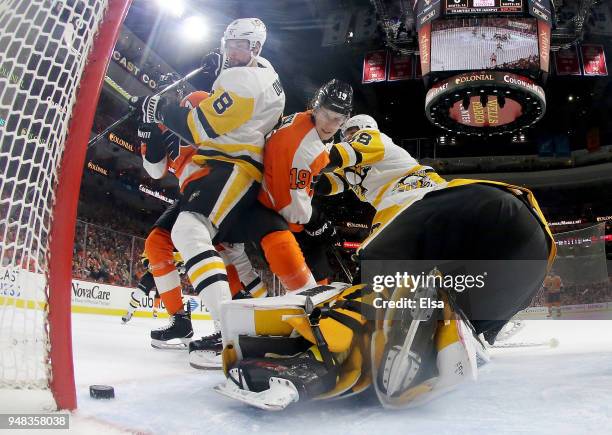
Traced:
<path fill-rule="evenodd" d="M 350 116 L 353 89 L 333 79 L 315 94 L 312 110 L 283 119 L 267 140 L 264 178 L 259 201 L 275 210 L 298 233 L 306 261 L 317 281 L 326 283 L 330 267 L 321 242 L 333 237 L 335 229 L 323 213 L 313 209 L 313 179 L 329 163 L 323 142 L 333 138 Z"/>

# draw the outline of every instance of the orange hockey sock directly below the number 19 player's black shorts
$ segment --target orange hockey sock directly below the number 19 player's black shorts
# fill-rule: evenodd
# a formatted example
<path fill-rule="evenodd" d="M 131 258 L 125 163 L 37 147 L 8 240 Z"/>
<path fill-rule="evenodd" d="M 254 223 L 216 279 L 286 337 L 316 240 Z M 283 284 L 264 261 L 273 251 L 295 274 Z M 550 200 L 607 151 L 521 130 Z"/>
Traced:
<path fill-rule="evenodd" d="M 275 231 L 265 235 L 261 239 L 261 247 L 270 270 L 287 291 L 317 284 L 291 231 Z"/>

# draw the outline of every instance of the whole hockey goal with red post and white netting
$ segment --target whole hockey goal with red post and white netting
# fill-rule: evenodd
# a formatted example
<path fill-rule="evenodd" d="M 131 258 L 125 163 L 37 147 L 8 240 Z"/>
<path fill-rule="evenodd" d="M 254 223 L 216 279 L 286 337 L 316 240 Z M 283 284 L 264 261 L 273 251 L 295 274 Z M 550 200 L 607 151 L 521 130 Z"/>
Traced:
<path fill-rule="evenodd" d="M 76 407 L 76 207 L 104 71 L 129 3 L 0 1 L 0 411 L 25 410 L 26 402 Z"/>

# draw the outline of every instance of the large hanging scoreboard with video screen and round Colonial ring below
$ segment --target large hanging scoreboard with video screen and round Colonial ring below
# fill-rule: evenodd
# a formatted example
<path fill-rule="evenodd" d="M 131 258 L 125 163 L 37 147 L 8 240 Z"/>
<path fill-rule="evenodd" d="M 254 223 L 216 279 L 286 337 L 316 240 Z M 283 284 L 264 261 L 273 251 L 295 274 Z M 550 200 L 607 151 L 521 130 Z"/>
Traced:
<path fill-rule="evenodd" d="M 488 136 L 544 116 L 550 0 L 418 0 L 416 16 L 434 125 Z"/>

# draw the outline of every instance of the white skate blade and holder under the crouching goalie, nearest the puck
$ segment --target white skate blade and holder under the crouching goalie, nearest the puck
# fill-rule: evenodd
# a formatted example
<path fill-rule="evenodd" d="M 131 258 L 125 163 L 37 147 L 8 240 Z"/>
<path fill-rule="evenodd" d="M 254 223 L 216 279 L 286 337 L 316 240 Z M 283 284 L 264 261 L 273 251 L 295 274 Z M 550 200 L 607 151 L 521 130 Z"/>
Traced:
<path fill-rule="evenodd" d="M 291 403 L 299 400 L 297 388 L 291 381 L 272 377 L 269 383 L 269 389 L 256 393 L 243 390 L 228 379 L 224 384 L 215 386 L 214 390 L 222 396 L 265 411 L 282 411 Z"/>

